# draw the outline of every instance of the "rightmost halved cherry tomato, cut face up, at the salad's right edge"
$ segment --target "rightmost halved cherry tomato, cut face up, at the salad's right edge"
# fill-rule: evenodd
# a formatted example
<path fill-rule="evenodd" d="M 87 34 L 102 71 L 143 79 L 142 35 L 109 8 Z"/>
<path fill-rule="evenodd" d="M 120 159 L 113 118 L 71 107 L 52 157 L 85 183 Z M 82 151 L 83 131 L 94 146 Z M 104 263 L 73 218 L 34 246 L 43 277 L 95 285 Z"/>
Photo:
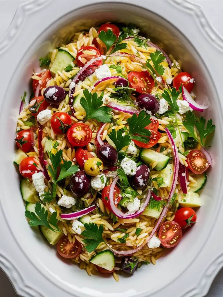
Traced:
<path fill-rule="evenodd" d="M 199 149 L 192 149 L 187 155 L 189 169 L 196 174 L 205 172 L 210 166 L 205 155 Z"/>

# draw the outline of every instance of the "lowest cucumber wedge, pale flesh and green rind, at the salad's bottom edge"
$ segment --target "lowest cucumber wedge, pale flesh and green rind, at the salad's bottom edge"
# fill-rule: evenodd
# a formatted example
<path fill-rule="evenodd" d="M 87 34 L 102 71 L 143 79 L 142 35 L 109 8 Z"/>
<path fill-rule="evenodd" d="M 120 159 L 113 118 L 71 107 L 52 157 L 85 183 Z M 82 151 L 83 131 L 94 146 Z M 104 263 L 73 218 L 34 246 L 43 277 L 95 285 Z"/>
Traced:
<path fill-rule="evenodd" d="M 109 249 L 106 249 L 105 251 L 97 253 L 89 260 L 89 262 L 111 271 L 115 265 L 114 260 L 115 257 L 113 252 Z"/>

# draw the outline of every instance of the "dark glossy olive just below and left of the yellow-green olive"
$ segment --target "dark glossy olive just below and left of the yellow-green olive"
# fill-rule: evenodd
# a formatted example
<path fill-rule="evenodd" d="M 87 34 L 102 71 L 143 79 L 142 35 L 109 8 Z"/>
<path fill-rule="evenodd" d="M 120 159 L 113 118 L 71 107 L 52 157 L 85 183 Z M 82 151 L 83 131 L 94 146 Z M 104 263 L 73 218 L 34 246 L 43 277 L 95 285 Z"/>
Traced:
<path fill-rule="evenodd" d="M 70 189 L 74 196 L 81 197 L 87 193 L 91 179 L 83 170 L 78 171 L 70 180 Z"/>

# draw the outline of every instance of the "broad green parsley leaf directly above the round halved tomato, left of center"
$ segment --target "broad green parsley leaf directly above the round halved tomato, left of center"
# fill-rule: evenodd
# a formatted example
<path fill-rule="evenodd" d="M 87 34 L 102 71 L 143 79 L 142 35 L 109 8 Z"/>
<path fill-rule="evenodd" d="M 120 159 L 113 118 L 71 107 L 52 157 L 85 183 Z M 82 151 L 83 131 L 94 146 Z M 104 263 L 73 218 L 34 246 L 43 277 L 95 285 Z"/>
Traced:
<path fill-rule="evenodd" d="M 85 121 L 96 119 L 99 122 L 110 123 L 112 117 L 110 112 L 112 111 L 112 108 L 101 106 L 103 104 L 103 96 L 98 97 L 97 93 L 91 94 L 87 89 L 83 91 L 83 94 L 85 98 L 81 97 L 81 105 L 86 112 Z"/>

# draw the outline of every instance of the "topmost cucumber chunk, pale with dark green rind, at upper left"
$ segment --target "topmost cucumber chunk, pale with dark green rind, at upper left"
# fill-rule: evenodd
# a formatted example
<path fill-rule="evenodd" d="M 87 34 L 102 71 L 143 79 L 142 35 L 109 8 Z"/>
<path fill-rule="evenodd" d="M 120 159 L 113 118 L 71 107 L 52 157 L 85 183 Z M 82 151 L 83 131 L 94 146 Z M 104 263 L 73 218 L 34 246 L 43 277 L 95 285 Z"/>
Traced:
<path fill-rule="evenodd" d="M 58 71 L 65 69 L 74 60 L 75 58 L 67 50 L 59 48 L 50 72 L 55 75 Z"/>

